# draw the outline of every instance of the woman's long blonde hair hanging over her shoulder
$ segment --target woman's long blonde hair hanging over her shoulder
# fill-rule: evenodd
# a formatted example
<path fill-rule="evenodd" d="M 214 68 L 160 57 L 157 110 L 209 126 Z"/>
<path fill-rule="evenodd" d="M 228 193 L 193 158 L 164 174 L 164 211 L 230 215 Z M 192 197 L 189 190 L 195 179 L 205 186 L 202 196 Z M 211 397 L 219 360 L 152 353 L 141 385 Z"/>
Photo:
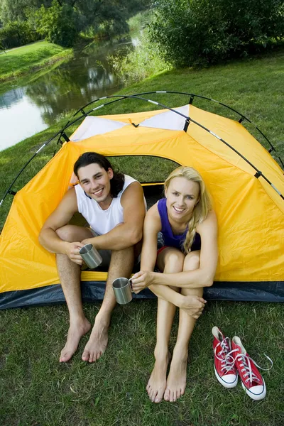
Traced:
<path fill-rule="evenodd" d="M 206 219 L 208 212 L 212 209 L 212 204 L 204 181 L 197 170 L 191 167 L 176 168 L 165 180 L 165 190 L 168 190 L 170 181 L 173 178 L 186 178 L 187 180 L 192 180 L 192 182 L 197 182 L 200 185 L 200 199 L 197 204 L 195 204 L 192 217 L 190 218 L 190 222 L 188 222 L 188 231 L 185 237 L 185 242 L 183 244 L 185 253 L 189 253 L 193 239 L 195 238 L 197 225 L 201 224 L 204 219 Z"/>

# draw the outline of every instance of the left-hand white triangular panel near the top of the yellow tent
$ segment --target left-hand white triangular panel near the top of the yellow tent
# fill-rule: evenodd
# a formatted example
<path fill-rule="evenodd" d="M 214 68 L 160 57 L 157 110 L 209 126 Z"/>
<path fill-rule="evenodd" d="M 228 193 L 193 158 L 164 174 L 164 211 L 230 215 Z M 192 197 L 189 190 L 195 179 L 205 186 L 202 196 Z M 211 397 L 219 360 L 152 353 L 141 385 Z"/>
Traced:
<path fill-rule="evenodd" d="M 102 135 L 102 133 L 121 129 L 121 127 L 124 126 L 129 126 L 129 124 L 102 119 L 101 117 L 87 116 L 81 126 L 72 134 L 70 140 L 72 142 L 83 141 L 92 136 Z"/>

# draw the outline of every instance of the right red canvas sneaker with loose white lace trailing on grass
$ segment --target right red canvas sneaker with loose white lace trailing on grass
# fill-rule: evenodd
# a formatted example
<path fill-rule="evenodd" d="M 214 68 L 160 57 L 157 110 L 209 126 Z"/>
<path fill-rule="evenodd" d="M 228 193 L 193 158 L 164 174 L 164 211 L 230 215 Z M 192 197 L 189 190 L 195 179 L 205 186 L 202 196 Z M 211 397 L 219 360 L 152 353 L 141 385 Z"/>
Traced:
<path fill-rule="evenodd" d="M 261 400 L 266 396 L 266 383 L 258 371 L 258 366 L 244 349 L 241 339 L 233 337 L 232 352 L 234 352 L 235 366 L 241 378 L 241 386 L 253 400 Z M 271 359 L 266 356 L 271 361 Z M 273 362 L 271 361 L 271 367 Z M 258 368 L 257 368 L 258 367 Z M 270 368 L 271 368 L 270 367 Z M 261 368 L 261 370 L 270 370 L 270 368 Z"/>

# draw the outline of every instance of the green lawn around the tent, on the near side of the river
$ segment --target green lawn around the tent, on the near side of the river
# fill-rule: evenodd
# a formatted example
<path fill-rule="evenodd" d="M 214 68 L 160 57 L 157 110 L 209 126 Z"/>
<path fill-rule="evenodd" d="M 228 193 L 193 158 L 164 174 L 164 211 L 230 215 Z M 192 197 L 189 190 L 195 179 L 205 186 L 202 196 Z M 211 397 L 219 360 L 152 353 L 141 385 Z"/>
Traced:
<path fill-rule="evenodd" d="M 124 89 L 124 93 L 167 89 L 203 94 L 243 112 L 260 127 L 283 155 L 283 53 L 243 62 L 231 62 L 207 70 L 172 70 Z M 152 97 L 170 107 L 188 102 L 179 95 Z M 196 100 L 196 105 L 220 112 L 217 104 Z M 153 109 L 142 101 L 118 102 L 113 112 Z M 107 114 L 111 109 L 100 109 Z M 224 110 L 225 115 L 231 113 Z M 66 119 L 17 146 L 1 152 L 0 195 L 16 171 Z M 70 132 L 67 132 L 70 134 Z M 266 145 L 264 143 L 264 145 Z M 35 157 L 16 185 L 20 189 L 50 159 L 55 144 Z M 137 160 L 136 160 L 137 161 Z M 163 178 L 174 167 L 167 160 L 116 158 L 121 170 L 136 178 Z M 158 172 L 156 171 L 158 170 Z M 3 225 L 12 197 L 0 209 Z M 89 320 L 100 302 L 84 305 Z M 145 386 L 153 368 L 155 300 L 133 301 L 114 311 L 109 347 L 94 365 L 80 356 L 84 337 L 72 361 L 58 363 L 67 333 L 65 305 L 2 311 L 0 322 L 0 424 L 17 426 L 282 426 L 283 410 L 283 306 L 272 303 L 208 302 L 197 322 L 190 344 L 187 389 L 177 403 L 153 404 Z M 222 388 L 214 378 L 211 328 L 238 335 L 253 359 L 263 367 L 265 352 L 273 359 L 263 372 L 268 395 L 255 402 L 241 386 Z M 173 325 L 170 349 L 177 332 Z"/>

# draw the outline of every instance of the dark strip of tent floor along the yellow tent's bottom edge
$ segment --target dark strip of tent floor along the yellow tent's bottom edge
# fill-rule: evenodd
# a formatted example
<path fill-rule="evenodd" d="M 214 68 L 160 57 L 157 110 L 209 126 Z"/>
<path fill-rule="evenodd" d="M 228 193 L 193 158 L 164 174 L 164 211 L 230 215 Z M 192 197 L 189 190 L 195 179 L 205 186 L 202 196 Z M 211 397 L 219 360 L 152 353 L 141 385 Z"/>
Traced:
<path fill-rule="evenodd" d="M 82 282 L 83 302 L 94 302 L 104 297 L 105 283 Z M 154 299 L 151 290 L 145 289 L 134 300 Z M 284 282 L 266 283 L 214 283 L 204 288 L 205 300 L 236 300 L 241 302 L 284 302 Z M 60 284 L 47 285 L 33 290 L 16 290 L 0 294 L 0 310 L 15 307 L 45 306 L 65 303 Z"/>

